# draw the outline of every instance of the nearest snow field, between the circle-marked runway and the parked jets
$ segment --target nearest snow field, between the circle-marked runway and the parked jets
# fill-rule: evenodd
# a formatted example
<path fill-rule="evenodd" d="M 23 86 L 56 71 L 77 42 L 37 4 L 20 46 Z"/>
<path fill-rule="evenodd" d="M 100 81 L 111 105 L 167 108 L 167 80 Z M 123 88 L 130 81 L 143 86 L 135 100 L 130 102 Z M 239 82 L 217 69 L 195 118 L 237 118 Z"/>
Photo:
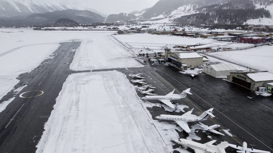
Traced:
<path fill-rule="evenodd" d="M 117 71 L 65 81 L 36 152 L 169 152 L 132 84 Z"/>

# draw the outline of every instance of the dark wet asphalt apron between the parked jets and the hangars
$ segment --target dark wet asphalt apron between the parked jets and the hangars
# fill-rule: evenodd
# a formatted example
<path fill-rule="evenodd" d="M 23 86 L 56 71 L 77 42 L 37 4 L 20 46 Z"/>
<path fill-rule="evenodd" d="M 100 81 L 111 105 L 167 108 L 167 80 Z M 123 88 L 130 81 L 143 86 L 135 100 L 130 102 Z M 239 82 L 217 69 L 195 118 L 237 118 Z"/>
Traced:
<path fill-rule="evenodd" d="M 147 84 L 152 84 L 156 87 L 154 91 L 158 95 L 166 95 L 174 88 L 175 93 L 181 93 L 187 88 L 191 88 L 193 95 L 187 95 L 186 98 L 175 100 L 173 104 L 183 104 L 189 106 L 189 111 L 194 108 L 192 114 L 199 115 L 203 111 L 214 108 L 213 114 L 216 118 L 209 118 L 204 121 L 206 125 L 220 124 L 222 129 L 229 129 L 234 137 L 210 134 L 212 139 L 221 141 L 228 141 L 235 144 L 235 141 L 256 145 L 256 149 L 266 150 L 272 152 L 273 148 L 273 99 L 271 97 L 263 97 L 256 95 L 254 92 L 236 85 L 232 82 L 223 80 L 222 78 L 214 78 L 208 75 L 198 75 L 194 78 L 190 75 L 185 75 L 177 72 L 173 67 L 165 65 L 150 65 L 144 68 L 133 68 L 123 70 L 128 77 L 128 74 L 142 73 L 146 79 Z M 137 85 L 137 84 L 136 84 Z M 138 85 L 140 86 L 140 85 Z M 138 94 L 140 97 L 144 95 Z M 251 97 L 252 99 L 250 99 Z M 152 101 L 151 103 L 160 103 L 160 101 Z M 162 103 L 161 103 L 162 104 Z M 164 105 L 164 104 L 162 104 Z M 160 114 L 182 115 L 183 112 L 168 112 L 164 108 L 152 107 L 147 108 L 154 120 Z M 165 121 L 164 121 L 165 122 Z M 189 123 L 195 124 L 195 123 Z M 220 128 L 220 129 L 221 129 Z M 188 137 L 188 134 L 183 131 L 177 131 L 181 138 Z M 199 143 L 206 143 L 211 141 L 206 133 L 198 132 L 197 135 L 202 140 Z M 173 147 L 179 147 L 175 145 Z M 249 147 L 249 146 L 248 146 Z M 189 151 L 193 151 L 189 149 Z M 226 149 L 227 152 L 235 152 L 231 147 Z"/>

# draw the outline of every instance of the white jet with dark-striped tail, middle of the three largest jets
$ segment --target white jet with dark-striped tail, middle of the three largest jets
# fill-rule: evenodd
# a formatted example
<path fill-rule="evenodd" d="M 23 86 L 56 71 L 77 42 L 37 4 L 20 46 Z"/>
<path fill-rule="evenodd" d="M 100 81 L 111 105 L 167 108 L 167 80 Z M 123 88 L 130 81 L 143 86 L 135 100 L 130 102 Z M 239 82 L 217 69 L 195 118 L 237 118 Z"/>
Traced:
<path fill-rule="evenodd" d="M 193 109 L 191 111 L 185 112 L 183 115 L 166 115 L 166 114 L 161 114 L 159 116 L 156 116 L 157 119 L 160 120 L 173 120 L 175 121 L 184 131 L 187 133 L 190 133 L 191 130 L 188 126 L 188 122 L 196 122 L 196 121 L 204 121 L 208 119 L 208 116 L 215 117 L 212 114 L 213 108 L 204 111 L 200 116 L 196 116 L 191 114 L 193 112 Z"/>

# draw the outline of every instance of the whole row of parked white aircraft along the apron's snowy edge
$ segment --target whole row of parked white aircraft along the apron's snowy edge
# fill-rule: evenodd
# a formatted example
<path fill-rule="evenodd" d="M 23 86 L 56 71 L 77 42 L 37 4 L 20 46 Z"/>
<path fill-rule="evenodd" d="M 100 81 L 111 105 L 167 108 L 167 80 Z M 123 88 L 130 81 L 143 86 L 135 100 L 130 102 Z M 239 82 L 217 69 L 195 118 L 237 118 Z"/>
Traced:
<path fill-rule="evenodd" d="M 131 80 L 133 83 L 139 83 L 139 84 L 143 84 L 143 88 L 146 88 L 146 91 L 142 91 L 140 90 L 141 94 L 146 94 L 146 96 L 142 97 L 141 99 L 144 100 L 159 100 L 162 103 L 166 104 L 167 106 L 171 107 L 171 108 L 175 108 L 173 106 L 173 104 L 171 103 L 171 100 L 178 100 L 181 98 L 185 98 L 187 96 L 187 94 L 192 95 L 192 93 L 190 92 L 191 88 L 188 88 L 186 90 L 184 90 L 181 94 L 173 94 L 175 89 L 170 92 L 167 95 L 157 95 L 157 94 L 153 94 L 151 92 L 154 92 L 154 88 L 152 87 L 152 85 L 145 85 L 146 83 L 144 82 L 145 80 L 143 79 L 144 77 L 142 77 L 142 74 L 139 73 L 137 75 L 132 75 L 130 74 L 129 76 L 131 76 L 132 78 L 142 78 L 140 80 Z M 189 126 L 188 126 L 188 122 L 197 122 L 197 121 L 204 121 L 208 119 L 208 116 L 212 116 L 215 117 L 212 114 L 212 110 L 208 109 L 207 111 L 204 111 L 200 116 L 191 114 L 193 112 L 193 109 L 191 109 L 191 111 L 188 111 L 186 113 L 184 113 L 183 115 L 167 115 L 167 114 L 161 114 L 159 116 L 156 116 L 157 119 L 161 120 L 173 120 L 175 121 L 184 131 L 186 131 L 187 133 L 191 132 Z M 198 122 L 197 124 L 198 126 L 200 126 L 200 128 L 202 129 L 202 131 L 210 131 L 212 133 L 216 133 L 216 134 L 220 134 L 220 135 L 224 135 L 218 131 L 216 131 L 215 129 L 220 127 L 220 125 L 214 124 L 212 126 L 207 126 L 201 122 Z M 229 144 L 228 142 L 224 141 L 221 142 L 218 145 L 212 145 L 213 143 L 216 142 L 216 140 L 212 140 L 209 141 L 207 143 L 198 143 L 198 142 L 194 142 L 191 140 L 187 140 L 187 139 L 177 139 L 174 140 L 176 143 L 182 145 L 182 146 L 187 146 L 189 148 L 192 148 L 195 153 L 226 153 L 225 148 L 230 146 L 233 147 L 235 149 L 238 149 L 237 152 L 239 153 L 270 153 L 268 151 L 264 151 L 264 150 L 258 150 L 258 149 L 254 149 L 254 145 L 251 145 L 251 148 L 247 148 L 247 143 L 243 142 L 242 146 L 238 146 L 238 143 L 236 145 L 233 144 Z"/>

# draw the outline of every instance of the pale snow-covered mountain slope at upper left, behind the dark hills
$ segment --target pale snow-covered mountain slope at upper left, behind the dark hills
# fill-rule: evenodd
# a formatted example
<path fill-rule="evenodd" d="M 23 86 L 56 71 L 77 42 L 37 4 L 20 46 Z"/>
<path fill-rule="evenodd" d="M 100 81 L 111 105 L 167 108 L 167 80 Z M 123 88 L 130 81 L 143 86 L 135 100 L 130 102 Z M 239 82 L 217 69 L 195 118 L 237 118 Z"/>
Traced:
<path fill-rule="evenodd" d="M 34 13 L 61 11 L 67 9 L 89 10 L 104 17 L 107 17 L 107 15 L 101 14 L 95 9 L 71 5 L 64 0 L 0 0 L 0 17 L 13 17 Z"/>

